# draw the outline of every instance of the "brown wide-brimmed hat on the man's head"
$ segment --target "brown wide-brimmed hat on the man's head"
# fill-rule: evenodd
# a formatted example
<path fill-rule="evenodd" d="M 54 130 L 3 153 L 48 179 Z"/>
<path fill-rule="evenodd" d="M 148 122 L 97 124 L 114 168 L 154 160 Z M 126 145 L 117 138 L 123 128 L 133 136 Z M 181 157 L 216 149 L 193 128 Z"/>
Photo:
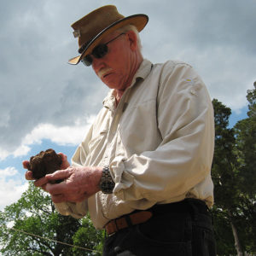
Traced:
<path fill-rule="evenodd" d="M 147 15 L 140 14 L 125 17 L 119 14 L 114 5 L 106 5 L 95 9 L 89 15 L 85 15 L 71 25 L 74 30 L 74 37 L 79 38 L 80 55 L 70 59 L 68 63 L 78 64 L 85 55 L 90 54 L 103 37 L 119 27 L 133 25 L 137 27 L 138 32 L 141 32 L 147 23 Z"/>

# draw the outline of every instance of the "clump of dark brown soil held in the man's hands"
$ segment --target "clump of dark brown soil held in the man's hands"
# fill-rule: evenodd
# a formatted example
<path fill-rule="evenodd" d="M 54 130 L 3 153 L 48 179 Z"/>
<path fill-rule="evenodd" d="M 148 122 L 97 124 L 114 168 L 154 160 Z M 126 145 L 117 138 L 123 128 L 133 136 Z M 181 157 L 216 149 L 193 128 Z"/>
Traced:
<path fill-rule="evenodd" d="M 30 158 L 28 170 L 31 170 L 32 176 L 38 179 L 46 174 L 60 170 L 61 163 L 61 155 L 56 154 L 55 150 L 49 148 Z"/>

